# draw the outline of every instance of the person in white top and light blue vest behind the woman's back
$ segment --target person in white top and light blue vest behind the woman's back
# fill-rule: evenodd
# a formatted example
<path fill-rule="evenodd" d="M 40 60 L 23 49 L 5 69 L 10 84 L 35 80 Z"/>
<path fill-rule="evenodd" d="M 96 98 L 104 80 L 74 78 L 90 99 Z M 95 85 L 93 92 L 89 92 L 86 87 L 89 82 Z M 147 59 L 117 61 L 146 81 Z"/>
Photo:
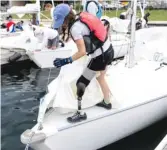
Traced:
<path fill-rule="evenodd" d="M 85 4 L 84 10 L 96 16 L 97 18 L 101 18 L 102 16 L 102 6 L 98 2 L 98 0 L 87 0 Z"/>

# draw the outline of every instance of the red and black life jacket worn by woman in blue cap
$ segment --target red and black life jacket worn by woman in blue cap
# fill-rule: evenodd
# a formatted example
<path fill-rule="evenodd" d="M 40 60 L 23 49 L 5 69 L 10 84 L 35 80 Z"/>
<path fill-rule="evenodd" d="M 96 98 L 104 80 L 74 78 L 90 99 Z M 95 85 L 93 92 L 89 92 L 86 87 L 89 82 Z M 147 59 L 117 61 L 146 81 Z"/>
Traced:
<path fill-rule="evenodd" d="M 103 23 L 100 21 L 100 19 L 98 19 L 96 16 L 88 12 L 81 12 L 79 14 L 79 18 L 76 21 L 78 20 L 81 21 L 83 24 L 85 24 L 90 30 L 89 37 L 91 42 L 89 43 L 91 43 L 91 48 L 89 49 L 91 49 L 91 52 L 89 51 L 88 53 L 91 54 L 98 48 L 102 49 L 103 44 L 107 40 L 107 31 Z M 86 42 L 85 42 L 85 45 L 86 45 Z M 95 48 L 93 47 L 93 45 Z"/>

